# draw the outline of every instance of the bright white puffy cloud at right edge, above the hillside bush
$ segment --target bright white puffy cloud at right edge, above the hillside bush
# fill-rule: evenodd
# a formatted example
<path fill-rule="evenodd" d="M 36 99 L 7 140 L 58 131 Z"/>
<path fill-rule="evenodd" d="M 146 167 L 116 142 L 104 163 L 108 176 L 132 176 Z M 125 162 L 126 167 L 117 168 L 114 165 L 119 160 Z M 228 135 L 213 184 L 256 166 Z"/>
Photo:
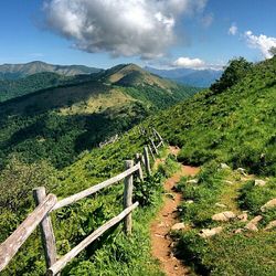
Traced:
<path fill-rule="evenodd" d="M 252 31 L 247 31 L 245 32 L 245 39 L 247 40 L 248 45 L 253 49 L 258 49 L 265 59 L 273 57 L 269 50 L 273 46 L 276 47 L 276 38 L 269 38 L 264 34 L 257 36 L 254 35 Z"/>

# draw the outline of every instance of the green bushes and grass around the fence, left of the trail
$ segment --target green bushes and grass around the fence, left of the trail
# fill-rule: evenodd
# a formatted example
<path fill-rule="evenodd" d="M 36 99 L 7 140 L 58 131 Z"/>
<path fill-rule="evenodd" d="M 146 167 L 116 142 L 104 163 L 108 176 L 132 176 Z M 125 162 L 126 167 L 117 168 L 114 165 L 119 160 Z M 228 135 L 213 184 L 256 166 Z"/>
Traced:
<path fill-rule="evenodd" d="M 11 200 L 10 205 L 7 197 L 2 193 L 0 195 L 0 242 L 33 210 L 32 188 L 45 185 L 49 192 L 65 198 L 124 171 L 124 160 L 132 159 L 136 152 L 141 152 L 147 142 L 137 132 L 136 128 L 113 145 L 83 153 L 78 161 L 59 172 L 45 162 L 26 166 L 17 160 L 11 161 L 2 173 L 0 185 L 11 184 L 13 195 L 18 197 L 18 200 Z M 169 160 L 161 173 L 157 172 L 147 178 L 144 184 L 136 182 L 135 201 L 138 200 L 140 206 L 134 212 L 131 237 L 126 237 L 121 225 L 112 229 L 70 263 L 62 275 L 115 276 L 118 272 L 126 276 L 162 275 L 150 256 L 149 222 L 161 202 L 161 182 L 173 166 L 173 161 Z M 123 184 L 118 183 L 54 212 L 52 217 L 60 255 L 68 252 L 121 211 L 123 189 Z M 38 231 L 28 240 L 1 275 L 44 275 L 45 262 L 39 234 Z"/>

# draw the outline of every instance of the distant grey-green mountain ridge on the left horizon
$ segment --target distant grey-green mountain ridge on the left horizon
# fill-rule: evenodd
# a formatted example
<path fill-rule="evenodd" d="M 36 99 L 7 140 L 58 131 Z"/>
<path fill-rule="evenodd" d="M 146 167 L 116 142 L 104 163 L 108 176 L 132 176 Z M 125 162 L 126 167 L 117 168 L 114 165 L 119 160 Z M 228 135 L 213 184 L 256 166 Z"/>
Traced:
<path fill-rule="evenodd" d="M 84 65 L 54 65 L 41 61 L 22 64 L 0 65 L 0 79 L 18 79 L 38 73 L 50 72 L 63 76 L 75 76 L 83 74 L 94 74 L 102 68 L 88 67 Z"/>

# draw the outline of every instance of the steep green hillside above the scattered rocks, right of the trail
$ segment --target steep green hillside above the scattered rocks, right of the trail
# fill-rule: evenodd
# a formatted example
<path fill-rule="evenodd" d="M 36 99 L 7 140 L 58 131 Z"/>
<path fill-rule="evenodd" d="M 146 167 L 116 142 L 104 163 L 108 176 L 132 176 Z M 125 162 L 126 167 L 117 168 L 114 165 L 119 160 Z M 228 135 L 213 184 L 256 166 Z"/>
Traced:
<path fill-rule="evenodd" d="M 221 94 L 204 91 L 150 119 L 191 164 L 209 160 L 276 173 L 276 57 Z"/>

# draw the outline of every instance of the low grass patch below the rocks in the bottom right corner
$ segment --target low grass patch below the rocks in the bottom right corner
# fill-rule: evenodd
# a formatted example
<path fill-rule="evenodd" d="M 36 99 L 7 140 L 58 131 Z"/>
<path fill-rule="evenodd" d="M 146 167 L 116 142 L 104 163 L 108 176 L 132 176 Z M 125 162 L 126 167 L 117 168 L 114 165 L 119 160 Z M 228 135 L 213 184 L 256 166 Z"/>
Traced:
<path fill-rule="evenodd" d="M 211 240 L 190 231 L 180 236 L 181 256 L 200 275 L 275 275 L 276 232 L 245 235 L 221 234 Z"/>

